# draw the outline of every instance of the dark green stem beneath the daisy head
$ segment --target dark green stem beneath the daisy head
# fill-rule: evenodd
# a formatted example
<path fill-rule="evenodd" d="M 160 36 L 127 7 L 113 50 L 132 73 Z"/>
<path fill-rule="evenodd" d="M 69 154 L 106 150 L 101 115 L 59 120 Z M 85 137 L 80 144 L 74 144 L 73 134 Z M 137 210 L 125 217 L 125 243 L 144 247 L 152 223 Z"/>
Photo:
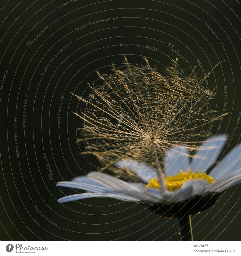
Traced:
<path fill-rule="evenodd" d="M 178 218 L 181 241 L 193 241 L 191 215 Z"/>

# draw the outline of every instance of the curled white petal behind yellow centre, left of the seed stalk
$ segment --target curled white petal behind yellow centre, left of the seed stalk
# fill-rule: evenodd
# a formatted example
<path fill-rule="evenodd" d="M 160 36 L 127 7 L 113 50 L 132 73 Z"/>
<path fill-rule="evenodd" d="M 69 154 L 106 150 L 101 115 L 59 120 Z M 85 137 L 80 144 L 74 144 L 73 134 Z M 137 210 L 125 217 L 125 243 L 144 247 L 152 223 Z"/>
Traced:
<path fill-rule="evenodd" d="M 130 168 L 140 179 L 149 183 L 150 179 L 156 178 L 156 171 L 151 167 L 143 163 L 139 163 L 130 159 L 121 159 L 115 163 L 118 168 Z"/>

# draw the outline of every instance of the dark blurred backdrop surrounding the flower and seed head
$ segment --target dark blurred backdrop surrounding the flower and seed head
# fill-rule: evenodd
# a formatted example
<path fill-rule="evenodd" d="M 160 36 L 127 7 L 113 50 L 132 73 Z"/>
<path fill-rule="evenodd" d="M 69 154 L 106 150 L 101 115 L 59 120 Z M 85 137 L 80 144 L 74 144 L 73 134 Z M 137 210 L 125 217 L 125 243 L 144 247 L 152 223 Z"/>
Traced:
<path fill-rule="evenodd" d="M 208 88 L 217 93 L 211 107 L 230 112 L 211 130 L 231 136 L 226 154 L 241 131 L 241 124 L 234 130 L 241 107 L 240 1 L 2 0 L 0 14 L 0 239 L 177 241 L 177 220 L 140 204 L 58 203 L 76 193 L 58 181 L 99 165 L 80 154 L 82 121 L 73 112 L 83 105 L 71 93 L 88 97 L 87 83 L 101 82 L 96 71 L 110 74 L 111 63 L 123 65 L 124 55 L 133 65 L 145 64 L 145 56 L 162 72 L 179 52 L 184 73 L 197 66 L 200 76 L 224 60 Z M 194 240 L 239 241 L 240 195 L 241 186 L 229 188 L 193 216 Z"/>

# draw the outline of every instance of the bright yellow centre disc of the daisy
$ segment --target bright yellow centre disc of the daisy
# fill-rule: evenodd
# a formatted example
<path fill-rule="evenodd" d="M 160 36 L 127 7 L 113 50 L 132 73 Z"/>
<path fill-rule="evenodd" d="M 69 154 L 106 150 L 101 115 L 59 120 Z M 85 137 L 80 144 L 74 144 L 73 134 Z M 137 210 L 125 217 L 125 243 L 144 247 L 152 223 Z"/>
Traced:
<path fill-rule="evenodd" d="M 215 180 L 211 176 L 207 175 L 207 173 L 204 173 L 204 171 L 202 171 L 201 173 L 199 173 L 198 170 L 196 170 L 196 172 L 191 172 L 190 169 L 188 169 L 187 172 L 183 172 L 183 170 L 180 170 L 180 174 L 176 174 L 172 177 L 168 175 L 167 177 L 165 177 L 165 182 L 167 189 L 176 190 L 180 188 L 184 182 L 192 179 L 204 179 L 208 181 L 208 184 L 215 182 Z M 158 179 L 153 178 L 150 179 L 150 182 L 148 185 L 146 185 L 146 187 L 160 188 L 161 186 L 158 182 Z"/>

